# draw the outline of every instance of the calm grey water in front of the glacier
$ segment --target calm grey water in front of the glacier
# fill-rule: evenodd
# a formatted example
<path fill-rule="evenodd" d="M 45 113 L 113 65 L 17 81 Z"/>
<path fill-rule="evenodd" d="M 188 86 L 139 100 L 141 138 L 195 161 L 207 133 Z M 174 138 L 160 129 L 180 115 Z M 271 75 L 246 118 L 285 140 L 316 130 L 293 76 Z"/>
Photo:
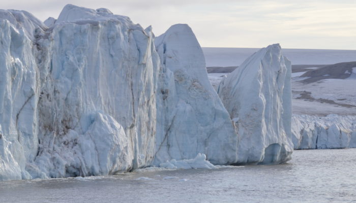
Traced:
<path fill-rule="evenodd" d="M 356 149 L 281 165 L 0 182 L 0 202 L 356 202 Z M 137 179 L 137 180 L 135 180 Z"/>

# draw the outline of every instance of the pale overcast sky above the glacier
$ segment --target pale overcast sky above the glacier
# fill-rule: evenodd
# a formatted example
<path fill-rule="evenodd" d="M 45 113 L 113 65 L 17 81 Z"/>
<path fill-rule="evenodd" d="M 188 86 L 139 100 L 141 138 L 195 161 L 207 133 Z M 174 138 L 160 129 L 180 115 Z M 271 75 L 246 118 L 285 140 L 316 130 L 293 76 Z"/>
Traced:
<path fill-rule="evenodd" d="M 189 24 L 202 47 L 356 49 L 355 0 L 1 0 L 0 9 L 57 18 L 66 4 L 108 8 L 129 16 L 156 36 L 170 25 Z"/>

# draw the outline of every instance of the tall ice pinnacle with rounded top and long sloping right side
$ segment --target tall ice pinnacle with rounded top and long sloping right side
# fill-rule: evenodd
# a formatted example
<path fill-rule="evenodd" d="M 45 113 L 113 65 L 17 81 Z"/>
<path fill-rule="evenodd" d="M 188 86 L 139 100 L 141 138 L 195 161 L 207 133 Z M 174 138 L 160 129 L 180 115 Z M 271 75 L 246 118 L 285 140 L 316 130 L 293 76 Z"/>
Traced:
<path fill-rule="evenodd" d="M 237 136 L 207 78 L 205 59 L 192 29 L 171 26 L 155 39 L 161 58 L 157 91 L 154 164 L 191 159 L 198 153 L 217 164 L 236 162 Z"/>

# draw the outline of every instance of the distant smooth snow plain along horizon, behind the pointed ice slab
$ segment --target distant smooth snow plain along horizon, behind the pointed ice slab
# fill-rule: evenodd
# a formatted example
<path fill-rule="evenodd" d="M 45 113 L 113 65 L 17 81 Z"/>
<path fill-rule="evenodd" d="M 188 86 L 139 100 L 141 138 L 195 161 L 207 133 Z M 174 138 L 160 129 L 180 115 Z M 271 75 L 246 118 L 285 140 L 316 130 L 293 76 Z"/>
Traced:
<path fill-rule="evenodd" d="M 258 48 L 203 47 L 206 66 L 239 66 Z M 334 64 L 356 61 L 356 50 L 282 49 L 292 64 Z"/>

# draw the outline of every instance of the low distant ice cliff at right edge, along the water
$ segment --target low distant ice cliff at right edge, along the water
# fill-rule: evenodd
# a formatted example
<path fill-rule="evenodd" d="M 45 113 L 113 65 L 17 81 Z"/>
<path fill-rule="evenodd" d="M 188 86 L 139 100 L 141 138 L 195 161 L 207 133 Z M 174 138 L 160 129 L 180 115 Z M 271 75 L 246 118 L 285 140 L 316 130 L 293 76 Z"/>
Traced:
<path fill-rule="evenodd" d="M 338 149 L 356 147 L 356 117 L 293 115 L 294 149 Z"/>

